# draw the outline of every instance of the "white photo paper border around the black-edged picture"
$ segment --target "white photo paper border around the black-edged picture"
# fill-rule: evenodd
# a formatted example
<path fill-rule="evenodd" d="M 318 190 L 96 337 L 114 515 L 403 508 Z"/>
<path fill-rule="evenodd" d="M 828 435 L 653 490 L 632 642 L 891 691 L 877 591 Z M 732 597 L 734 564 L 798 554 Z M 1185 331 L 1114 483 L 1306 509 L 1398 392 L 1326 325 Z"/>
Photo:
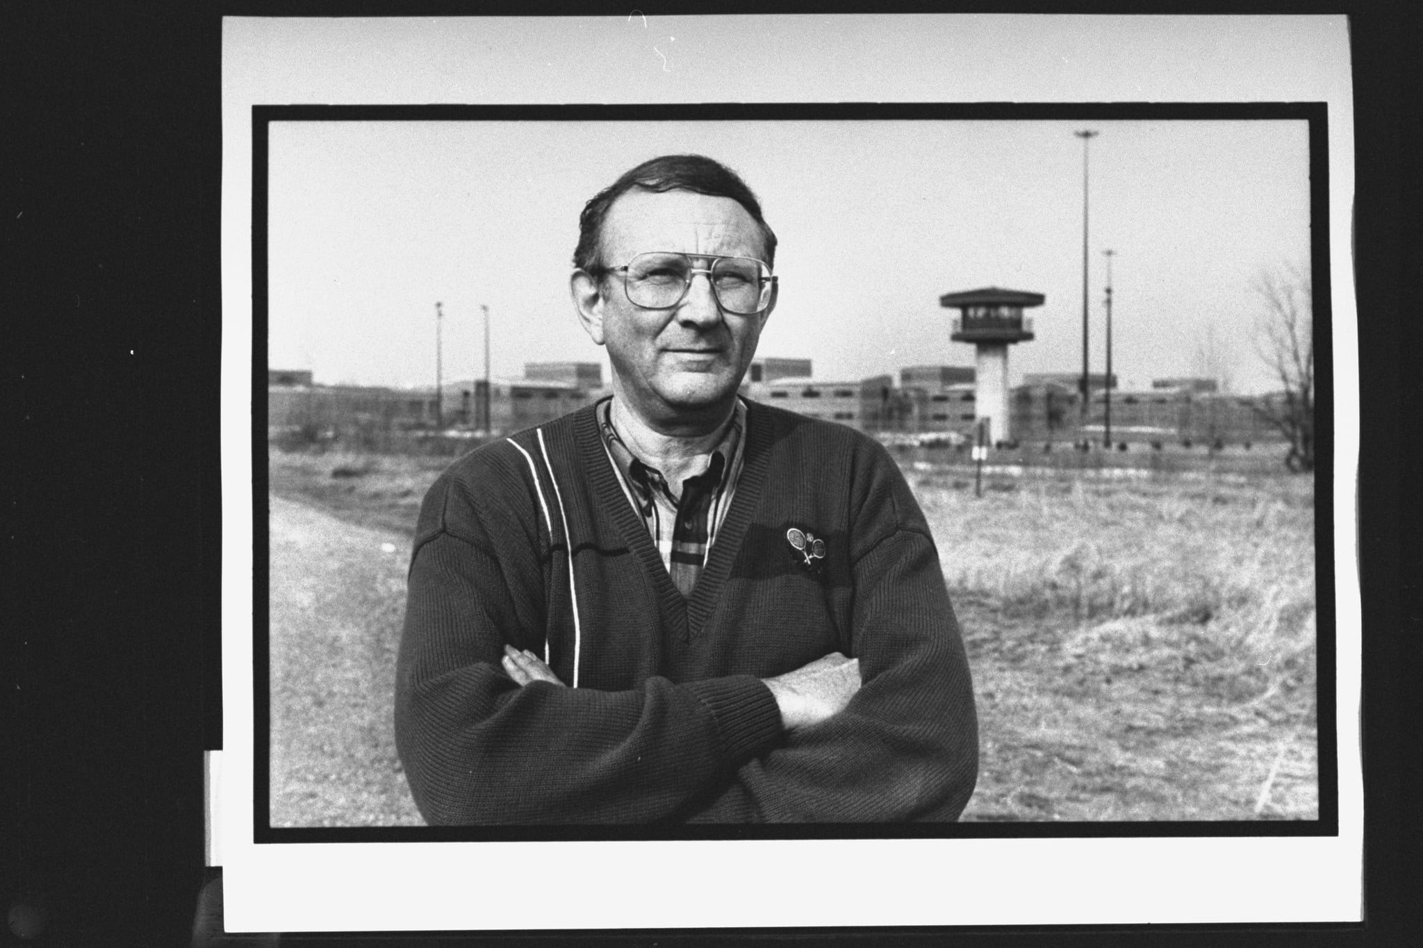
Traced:
<path fill-rule="evenodd" d="M 712 51 L 731 48 L 733 17 L 223 20 L 223 750 L 212 755 L 209 861 L 223 867 L 226 930 L 1359 921 L 1346 18 L 757 16 L 751 30 L 736 20 L 743 40 L 723 55 Z M 252 107 L 697 101 L 1326 104 L 1336 721 L 1321 728 L 1338 735 L 1338 836 L 253 843 Z"/>

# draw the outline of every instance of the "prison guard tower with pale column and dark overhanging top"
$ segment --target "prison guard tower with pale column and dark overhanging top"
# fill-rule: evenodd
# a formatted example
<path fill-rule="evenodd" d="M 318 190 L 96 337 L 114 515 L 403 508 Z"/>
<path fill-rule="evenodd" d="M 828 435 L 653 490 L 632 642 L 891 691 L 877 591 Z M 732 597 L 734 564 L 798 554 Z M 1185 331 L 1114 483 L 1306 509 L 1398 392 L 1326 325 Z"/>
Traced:
<path fill-rule="evenodd" d="M 989 442 L 1013 438 L 1007 402 L 1007 347 L 1033 338 L 1033 320 L 1025 320 L 1023 310 L 1042 306 L 1044 298 L 1042 293 L 992 286 L 939 297 L 939 306 L 959 310 L 953 320 L 953 341 L 973 343 L 978 347 L 973 419 L 975 424 L 989 419 Z"/>

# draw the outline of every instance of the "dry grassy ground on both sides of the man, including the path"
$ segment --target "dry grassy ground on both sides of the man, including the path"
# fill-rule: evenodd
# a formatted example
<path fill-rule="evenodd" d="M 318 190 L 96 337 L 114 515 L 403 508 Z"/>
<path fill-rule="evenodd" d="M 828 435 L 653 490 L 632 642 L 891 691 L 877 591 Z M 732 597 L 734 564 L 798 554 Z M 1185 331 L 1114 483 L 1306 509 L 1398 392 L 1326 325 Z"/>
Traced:
<path fill-rule="evenodd" d="M 273 826 L 418 822 L 390 682 L 447 463 L 272 452 Z M 1318 817 L 1309 479 L 906 475 L 975 674 L 965 820 Z"/>

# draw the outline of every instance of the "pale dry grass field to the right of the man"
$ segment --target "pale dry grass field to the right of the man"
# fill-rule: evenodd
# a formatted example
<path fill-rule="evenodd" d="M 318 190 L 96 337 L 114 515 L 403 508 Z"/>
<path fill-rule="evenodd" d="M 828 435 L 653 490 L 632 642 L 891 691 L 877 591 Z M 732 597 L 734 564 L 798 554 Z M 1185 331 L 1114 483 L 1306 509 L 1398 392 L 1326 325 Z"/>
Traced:
<path fill-rule="evenodd" d="M 1308 480 L 911 482 L 975 671 L 965 819 L 1318 817 Z"/>

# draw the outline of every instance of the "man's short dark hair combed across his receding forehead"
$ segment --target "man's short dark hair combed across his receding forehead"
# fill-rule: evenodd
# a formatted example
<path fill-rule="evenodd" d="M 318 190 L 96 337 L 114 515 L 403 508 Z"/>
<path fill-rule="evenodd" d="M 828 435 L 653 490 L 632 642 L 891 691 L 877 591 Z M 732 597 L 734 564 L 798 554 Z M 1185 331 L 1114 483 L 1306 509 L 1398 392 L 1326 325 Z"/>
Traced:
<path fill-rule="evenodd" d="M 593 276 L 602 276 L 606 264 L 602 257 L 603 219 L 613 202 L 633 188 L 643 190 L 694 190 L 712 198 L 730 198 L 746 208 L 761 229 L 766 243 L 766 263 L 776 264 L 776 235 L 761 217 L 761 203 L 741 178 L 719 161 L 706 155 L 663 155 L 623 172 L 622 178 L 608 185 L 593 199 L 583 205 L 578 216 L 578 249 L 573 250 L 573 266 Z"/>

